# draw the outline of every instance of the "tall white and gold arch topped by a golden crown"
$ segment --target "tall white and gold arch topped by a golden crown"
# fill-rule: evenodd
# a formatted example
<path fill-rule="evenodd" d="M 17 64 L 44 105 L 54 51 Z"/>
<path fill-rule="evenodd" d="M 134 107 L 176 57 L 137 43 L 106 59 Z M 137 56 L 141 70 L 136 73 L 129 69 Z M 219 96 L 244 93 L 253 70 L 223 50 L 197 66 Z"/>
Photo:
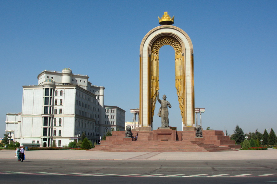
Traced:
<path fill-rule="evenodd" d="M 149 31 L 140 45 L 140 127 L 152 130 L 156 98 L 159 90 L 159 49 L 170 45 L 175 50 L 175 86 L 182 116 L 183 131 L 194 124 L 193 47 L 190 37 L 173 26 L 174 16 L 167 12 L 159 18 L 158 26 Z"/>

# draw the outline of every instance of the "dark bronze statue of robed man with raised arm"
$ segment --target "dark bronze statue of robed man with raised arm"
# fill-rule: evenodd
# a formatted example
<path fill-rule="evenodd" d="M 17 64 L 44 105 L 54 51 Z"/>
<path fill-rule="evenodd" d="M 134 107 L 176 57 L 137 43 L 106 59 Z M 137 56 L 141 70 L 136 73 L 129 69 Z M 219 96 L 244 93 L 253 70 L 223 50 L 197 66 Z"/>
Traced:
<path fill-rule="evenodd" d="M 169 108 L 171 108 L 171 105 L 166 100 L 167 99 L 166 95 L 163 95 L 163 100 L 160 100 L 159 94 L 160 93 L 158 92 L 157 101 L 161 104 L 161 107 L 159 109 L 158 116 L 162 117 L 162 127 L 169 127 L 169 125 L 168 125 L 168 109 L 167 109 L 167 106 Z"/>

